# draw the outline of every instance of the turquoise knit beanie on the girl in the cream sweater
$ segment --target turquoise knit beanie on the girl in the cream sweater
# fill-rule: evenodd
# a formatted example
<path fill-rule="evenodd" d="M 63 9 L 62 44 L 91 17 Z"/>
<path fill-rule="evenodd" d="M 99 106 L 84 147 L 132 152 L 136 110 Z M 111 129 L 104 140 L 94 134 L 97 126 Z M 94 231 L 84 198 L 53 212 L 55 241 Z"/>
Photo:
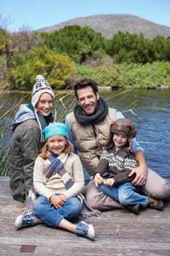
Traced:
<path fill-rule="evenodd" d="M 45 136 L 45 140 L 55 135 L 67 137 L 67 127 L 65 124 L 53 122 L 42 130 L 42 134 Z"/>

